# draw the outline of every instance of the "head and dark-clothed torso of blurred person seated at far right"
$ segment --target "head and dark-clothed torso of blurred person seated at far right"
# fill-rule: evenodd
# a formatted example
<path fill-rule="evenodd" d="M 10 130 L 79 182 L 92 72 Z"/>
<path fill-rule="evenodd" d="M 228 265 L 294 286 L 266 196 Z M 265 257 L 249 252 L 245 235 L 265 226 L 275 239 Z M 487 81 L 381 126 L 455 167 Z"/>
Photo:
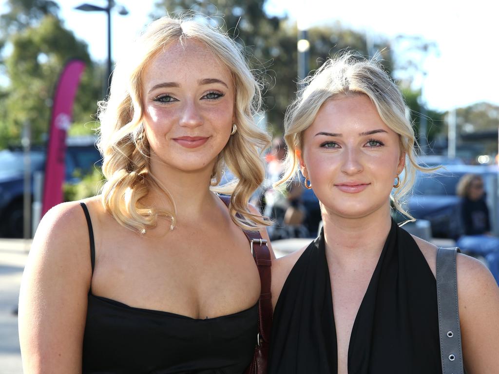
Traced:
<path fill-rule="evenodd" d="M 490 234 L 489 208 L 485 201 L 484 181 L 476 174 L 461 178 L 457 187 L 461 199 L 461 222 L 465 235 Z"/>

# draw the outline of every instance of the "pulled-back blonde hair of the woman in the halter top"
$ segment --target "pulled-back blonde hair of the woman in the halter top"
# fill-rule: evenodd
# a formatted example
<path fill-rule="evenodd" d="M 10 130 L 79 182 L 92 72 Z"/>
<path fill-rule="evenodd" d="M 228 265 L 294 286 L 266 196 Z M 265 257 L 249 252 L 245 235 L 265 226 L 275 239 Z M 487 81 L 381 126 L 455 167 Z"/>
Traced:
<path fill-rule="evenodd" d="M 430 172 L 416 162 L 414 130 L 406 117 L 407 106 L 397 85 L 383 67 L 351 52 L 328 59 L 312 75 L 301 82 L 297 98 L 289 105 L 284 119 L 284 140 L 288 153 L 285 172 L 276 186 L 289 183 L 299 173 L 296 151 L 302 150 L 303 132 L 313 123 L 321 106 L 329 100 L 351 95 L 367 95 L 383 122 L 399 135 L 400 149 L 406 153 L 405 173 L 401 185 L 390 195 L 395 208 L 414 219 L 402 207 L 402 197 L 414 184 L 416 170 Z"/>

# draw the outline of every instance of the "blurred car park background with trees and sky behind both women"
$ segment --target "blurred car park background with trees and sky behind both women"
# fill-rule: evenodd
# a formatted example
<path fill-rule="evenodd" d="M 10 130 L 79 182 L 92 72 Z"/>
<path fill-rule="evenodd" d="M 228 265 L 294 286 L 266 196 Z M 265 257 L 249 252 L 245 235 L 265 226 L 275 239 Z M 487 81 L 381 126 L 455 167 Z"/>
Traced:
<path fill-rule="evenodd" d="M 207 14 L 244 46 L 264 81 L 261 126 L 274 136 L 267 181 L 252 202 L 275 220 L 278 255 L 317 235 L 320 207 L 296 180 L 274 190 L 286 106 L 296 82 L 328 56 L 355 50 L 378 59 L 399 84 L 421 146 L 419 162 L 443 165 L 420 176 L 405 207 L 405 227 L 438 245 L 460 245 L 498 278 L 499 48 L 497 4 L 486 0 L 410 3 L 308 0 L 2 0 L 0 1 L 0 374 L 21 373 L 15 306 L 30 238 L 40 215 L 54 92 L 67 61 L 85 69 L 67 130 L 63 199 L 102 185 L 94 130 L 115 61 L 151 20 L 184 9 Z M 458 183 L 476 175 L 458 194 Z M 231 176 L 226 176 L 229 181 Z M 471 193 L 471 192 L 470 192 Z M 471 196 L 471 197 L 470 197 Z M 480 202 L 483 230 L 461 217 Z M 476 202 L 479 201 L 479 202 Z M 487 211 L 484 212 L 483 206 Z M 469 204 L 466 205 L 468 209 Z M 397 221 L 405 217 L 394 214 Z M 477 220 L 476 219 L 476 220 Z M 480 222 L 479 222 L 480 223 Z M 19 239 L 24 238 L 24 239 Z"/>

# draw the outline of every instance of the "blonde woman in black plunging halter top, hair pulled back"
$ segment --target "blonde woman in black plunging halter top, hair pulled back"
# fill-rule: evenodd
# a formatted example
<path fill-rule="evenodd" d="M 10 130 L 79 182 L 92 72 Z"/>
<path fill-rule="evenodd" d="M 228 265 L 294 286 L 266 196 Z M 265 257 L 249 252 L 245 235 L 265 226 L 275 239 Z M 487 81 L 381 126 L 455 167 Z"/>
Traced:
<path fill-rule="evenodd" d="M 390 217 L 422 169 L 402 95 L 378 64 L 348 54 L 305 84 L 286 115 L 281 182 L 301 172 L 323 230 L 272 264 L 269 374 L 442 373 L 437 248 Z M 499 373 L 498 286 L 462 254 L 457 278 L 465 369 Z"/>

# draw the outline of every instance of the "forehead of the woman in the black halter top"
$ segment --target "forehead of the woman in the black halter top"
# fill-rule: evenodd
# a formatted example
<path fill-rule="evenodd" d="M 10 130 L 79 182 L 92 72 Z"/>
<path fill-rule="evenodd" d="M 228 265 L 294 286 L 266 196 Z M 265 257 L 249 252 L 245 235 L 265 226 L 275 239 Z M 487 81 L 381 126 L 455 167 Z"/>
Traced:
<path fill-rule="evenodd" d="M 395 134 L 383 122 L 371 99 L 364 94 L 355 94 L 326 101 L 307 130 L 327 130 L 343 134 L 349 131 L 365 132 L 375 129 Z"/>

